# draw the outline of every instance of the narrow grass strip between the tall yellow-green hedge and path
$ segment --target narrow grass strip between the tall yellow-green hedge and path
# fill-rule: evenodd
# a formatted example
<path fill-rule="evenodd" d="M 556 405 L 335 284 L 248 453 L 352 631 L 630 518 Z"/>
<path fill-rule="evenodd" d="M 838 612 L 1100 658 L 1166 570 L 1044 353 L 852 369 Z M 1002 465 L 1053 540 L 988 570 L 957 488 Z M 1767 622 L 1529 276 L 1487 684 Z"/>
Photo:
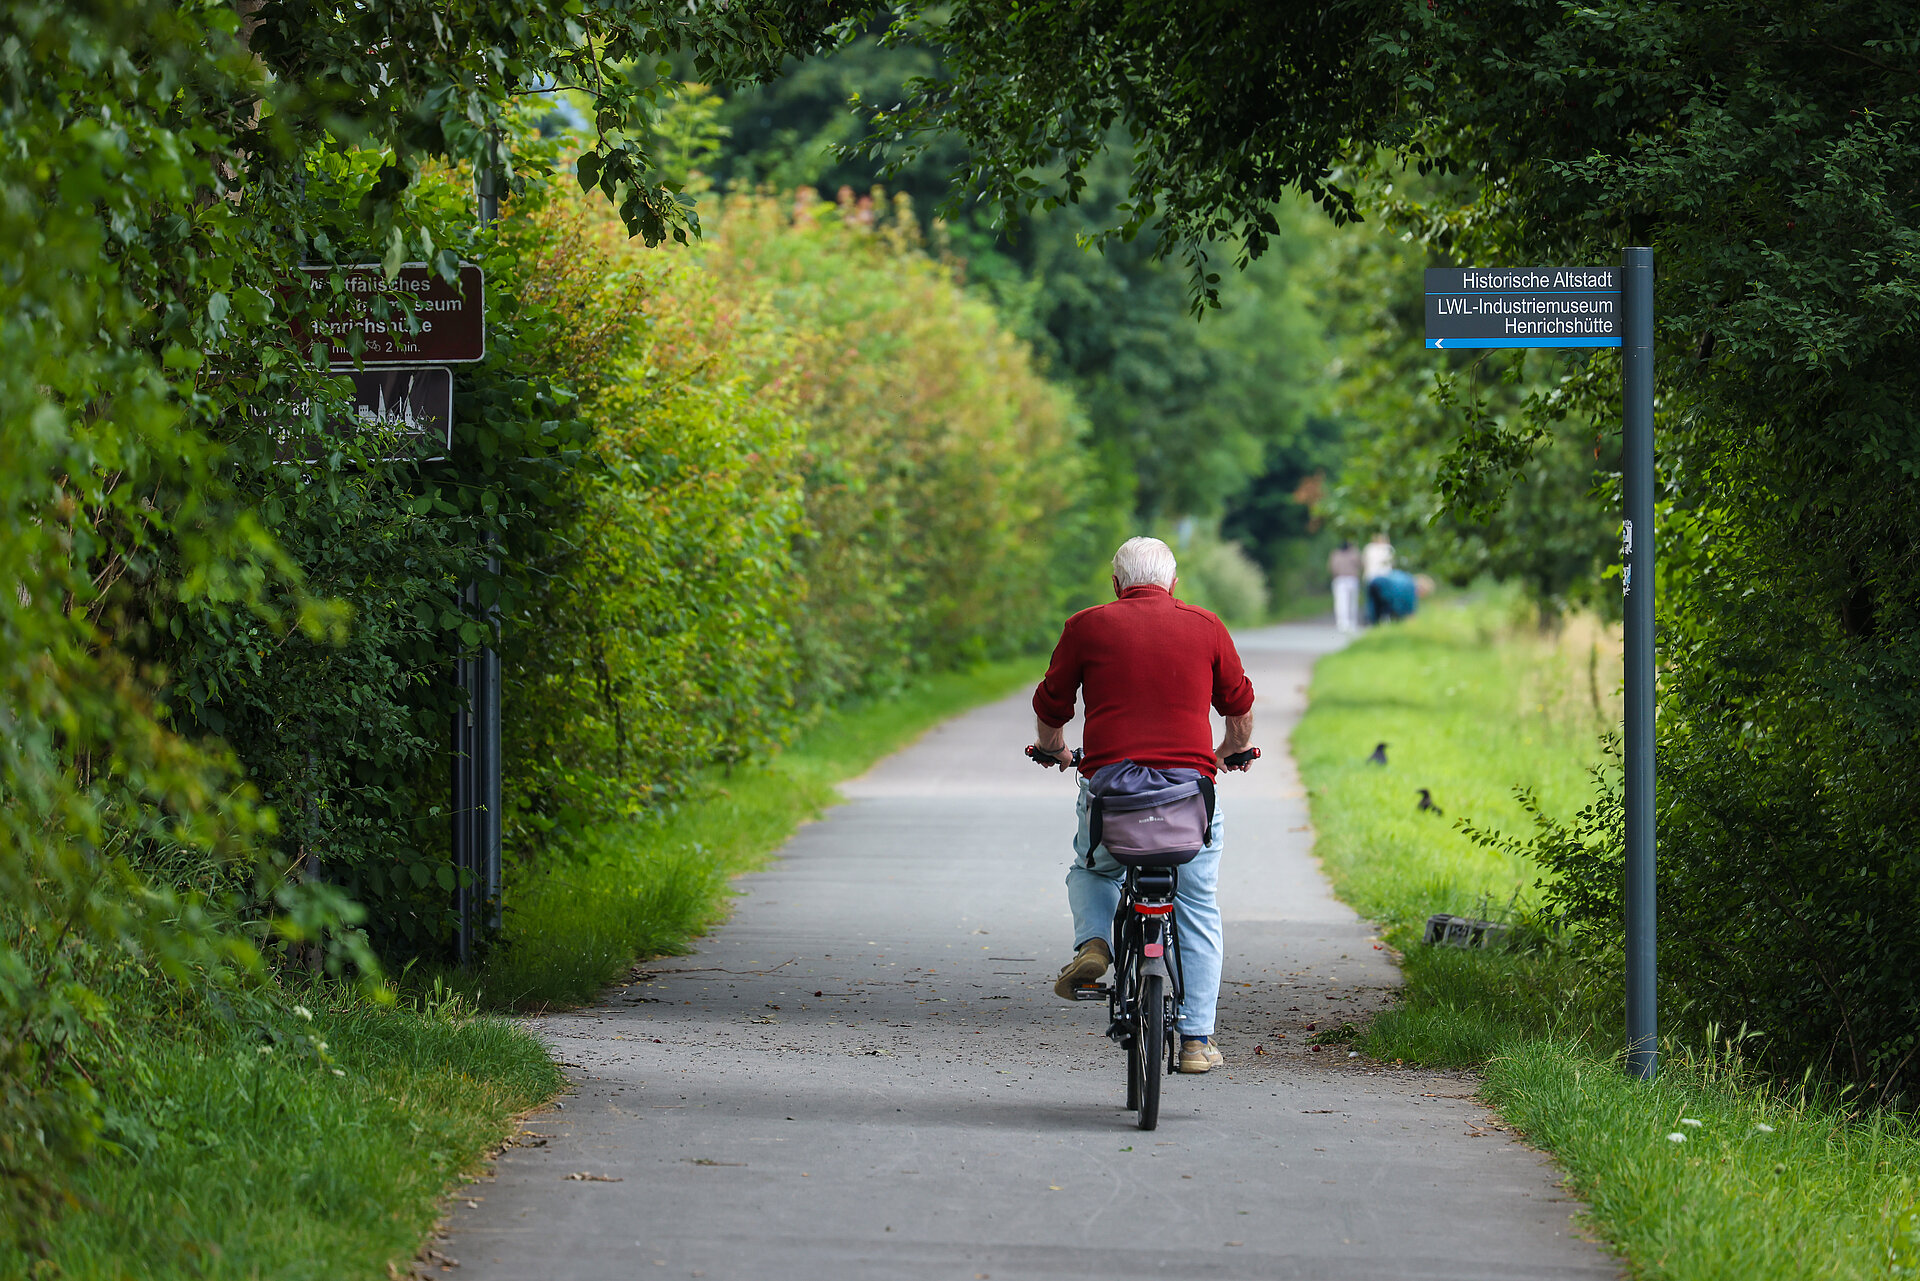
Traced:
<path fill-rule="evenodd" d="M 987 699 L 1039 680 L 1041 659 L 924 678 L 843 709 L 768 762 L 714 770 L 672 814 L 611 824 L 570 858 L 509 883 L 505 945 L 476 989 L 490 1006 L 591 1001 L 637 956 L 685 951 L 726 914 L 730 882 L 762 866 L 793 830 L 833 805 L 833 786 Z"/>

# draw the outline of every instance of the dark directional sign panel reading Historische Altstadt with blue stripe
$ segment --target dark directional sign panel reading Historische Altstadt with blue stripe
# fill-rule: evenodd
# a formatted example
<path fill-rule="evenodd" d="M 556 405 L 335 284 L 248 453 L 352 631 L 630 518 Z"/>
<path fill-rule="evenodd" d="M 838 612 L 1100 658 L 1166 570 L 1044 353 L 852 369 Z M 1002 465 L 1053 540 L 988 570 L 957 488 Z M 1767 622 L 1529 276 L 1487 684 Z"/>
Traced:
<path fill-rule="evenodd" d="M 1427 346 L 1617 348 L 1619 267 L 1428 267 Z"/>

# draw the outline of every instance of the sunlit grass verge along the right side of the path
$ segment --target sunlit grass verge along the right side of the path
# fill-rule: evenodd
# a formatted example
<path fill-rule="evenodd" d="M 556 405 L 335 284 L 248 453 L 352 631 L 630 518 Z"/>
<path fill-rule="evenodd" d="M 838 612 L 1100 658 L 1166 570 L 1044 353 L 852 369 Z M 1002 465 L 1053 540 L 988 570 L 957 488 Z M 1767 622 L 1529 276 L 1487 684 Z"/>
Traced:
<path fill-rule="evenodd" d="M 1845 1095 L 1753 1076 L 1738 1039 L 1667 1045 L 1661 1079 L 1620 1070 L 1619 981 L 1546 947 L 1419 943 L 1430 912 L 1524 906 L 1538 872 L 1453 828 L 1519 832 L 1515 786 L 1549 814 L 1590 799 L 1617 720 L 1617 649 L 1590 624 L 1548 638 L 1507 601 L 1430 607 L 1321 659 L 1294 732 L 1317 853 L 1404 953 L 1402 1003 L 1361 1049 L 1480 1066 L 1484 1095 L 1549 1150 L 1634 1275 L 1920 1275 L 1920 1127 Z M 1365 764 L 1386 741 L 1388 764 Z M 1415 809 L 1427 787 L 1444 818 Z M 1672 1135 L 1678 1135 L 1672 1137 Z"/>

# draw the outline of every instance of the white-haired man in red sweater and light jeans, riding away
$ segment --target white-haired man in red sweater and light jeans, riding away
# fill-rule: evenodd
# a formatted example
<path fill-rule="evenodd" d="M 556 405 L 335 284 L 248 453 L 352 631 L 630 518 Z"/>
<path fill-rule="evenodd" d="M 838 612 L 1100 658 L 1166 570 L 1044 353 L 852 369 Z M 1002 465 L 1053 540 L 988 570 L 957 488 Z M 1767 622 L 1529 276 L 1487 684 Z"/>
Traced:
<path fill-rule="evenodd" d="M 1173 597 L 1173 549 L 1158 538 L 1129 538 L 1114 553 L 1114 599 L 1068 618 L 1054 645 L 1046 678 L 1033 691 L 1035 761 L 1071 768 L 1064 728 L 1073 720 L 1075 695 L 1085 699 L 1079 757 L 1079 832 L 1068 868 L 1073 908 L 1073 958 L 1060 970 L 1054 991 L 1073 1001 L 1077 987 L 1094 983 L 1114 964 L 1108 931 L 1119 906 L 1127 868 L 1106 845 L 1092 845 L 1091 778 L 1121 762 L 1152 770 L 1198 772 L 1208 780 L 1248 751 L 1254 737 L 1254 682 L 1225 624 L 1198 605 Z M 1208 709 L 1227 720 L 1215 745 Z M 1204 849 L 1179 870 L 1175 920 L 1185 970 L 1179 1008 L 1181 1072 L 1208 1072 L 1223 1058 L 1213 1049 L 1213 1010 L 1219 1001 L 1223 937 L 1213 889 L 1219 876 L 1221 812 L 1215 801 Z"/>

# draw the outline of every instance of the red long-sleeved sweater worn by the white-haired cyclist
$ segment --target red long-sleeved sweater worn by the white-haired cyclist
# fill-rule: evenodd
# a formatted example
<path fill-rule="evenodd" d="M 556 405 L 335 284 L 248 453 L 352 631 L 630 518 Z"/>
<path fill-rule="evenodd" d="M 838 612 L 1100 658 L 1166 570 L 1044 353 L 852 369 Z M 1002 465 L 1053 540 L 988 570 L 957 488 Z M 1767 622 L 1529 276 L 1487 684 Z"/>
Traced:
<path fill-rule="evenodd" d="M 1068 618 L 1046 680 L 1033 691 L 1033 713 L 1064 726 L 1073 720 L 1075 689 L 1087 691 L 1083 774 L 1135 761 L 1212 778 L 1206 709 L 1221 716 L 1254 711 L 1254 682 L 1225 624 L 1154 586 L 1127 588 L 1117 601 Z"/>

